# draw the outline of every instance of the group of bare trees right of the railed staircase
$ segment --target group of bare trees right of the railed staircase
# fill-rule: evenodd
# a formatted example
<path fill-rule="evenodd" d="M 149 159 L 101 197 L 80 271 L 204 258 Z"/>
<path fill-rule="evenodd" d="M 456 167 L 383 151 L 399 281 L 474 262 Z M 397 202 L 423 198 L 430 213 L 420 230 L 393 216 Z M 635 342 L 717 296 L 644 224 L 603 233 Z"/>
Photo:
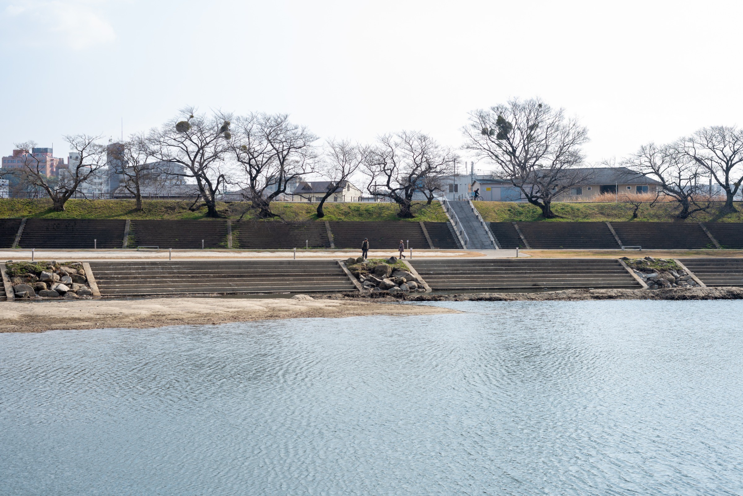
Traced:
<path fill-rule="evenodd" d="M 545 218 L 556 217 L 551 204 L 557 198 L 591 183 L 592 169 L 584 166 L 582 152 L 587 129 L 566 117 L 562 108 L 551 108 L 539 99 L 512 99 L 471 112 L 464 137 L 464 149 L 495 166 L 494 175 L 519 189 Z M 668 145 L 649 143 L 619 165 L 634 172 L 635 178 L 658 181 L 656 198 L 672 198 L 678 203 L 678 218 L 687 218 L 713 205 L 705 178 L 724 191 L 720 213 L 736 212 L 733 199 L 743 180 L 742 163 L 743 131 L 715 126 Z"/>

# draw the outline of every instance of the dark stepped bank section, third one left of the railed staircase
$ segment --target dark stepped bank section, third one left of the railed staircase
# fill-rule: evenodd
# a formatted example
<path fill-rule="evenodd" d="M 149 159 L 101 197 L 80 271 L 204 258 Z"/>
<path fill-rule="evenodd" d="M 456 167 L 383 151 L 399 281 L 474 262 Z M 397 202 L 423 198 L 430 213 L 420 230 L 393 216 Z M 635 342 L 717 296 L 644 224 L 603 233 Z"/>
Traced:
<path fill-rule="evenodd" d="M 233 225 L 233 239 L 241 249 L 330 248 L 325 222 L 241 222 Z"/>

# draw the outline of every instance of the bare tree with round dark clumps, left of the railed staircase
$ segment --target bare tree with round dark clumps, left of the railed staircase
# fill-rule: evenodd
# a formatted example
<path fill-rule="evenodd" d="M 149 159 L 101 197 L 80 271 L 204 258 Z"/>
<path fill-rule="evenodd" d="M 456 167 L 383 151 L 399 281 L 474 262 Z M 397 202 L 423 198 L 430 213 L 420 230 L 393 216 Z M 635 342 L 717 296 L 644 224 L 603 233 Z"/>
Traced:
<path fill-rule="evenodd" d="M 211 116 L 197 114 L 194 107 L 186 107 L 181 114 L 159 129 L 149 132 L 146 153 L 163 163 L 181 164 L 181 177 L 192 177 L 198 186 L 198 197 L 207 206 L 207 217 L 221 217 L 217 212 L 217 195 L 226 183 L 224 158 L 230 148 L 230 114 Z"/>

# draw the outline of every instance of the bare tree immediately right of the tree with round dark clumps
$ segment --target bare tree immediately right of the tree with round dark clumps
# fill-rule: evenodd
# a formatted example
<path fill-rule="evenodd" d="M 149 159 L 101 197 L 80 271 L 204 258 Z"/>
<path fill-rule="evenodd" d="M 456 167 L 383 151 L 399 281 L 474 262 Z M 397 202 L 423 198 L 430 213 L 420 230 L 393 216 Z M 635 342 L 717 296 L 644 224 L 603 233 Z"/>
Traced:
<path fill-rule="evenodd" d="M 236 184 L 260 218 L 276 217 L 270 203 L 298 177 L 314 172 L 317 136 L 287 114 L 249 114 L 236 120 L 232 156 L 242 169 Z"/>

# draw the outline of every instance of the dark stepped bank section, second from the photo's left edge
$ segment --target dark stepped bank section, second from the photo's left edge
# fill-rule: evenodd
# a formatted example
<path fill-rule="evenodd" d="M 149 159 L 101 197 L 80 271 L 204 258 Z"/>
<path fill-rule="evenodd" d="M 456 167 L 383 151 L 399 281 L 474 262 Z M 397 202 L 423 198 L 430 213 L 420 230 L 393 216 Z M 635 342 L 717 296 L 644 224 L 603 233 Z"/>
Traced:
<path fill-rule="evenodd" d="M 19 247 L 120 248 L 126 221 L 27 219 Z"/>

